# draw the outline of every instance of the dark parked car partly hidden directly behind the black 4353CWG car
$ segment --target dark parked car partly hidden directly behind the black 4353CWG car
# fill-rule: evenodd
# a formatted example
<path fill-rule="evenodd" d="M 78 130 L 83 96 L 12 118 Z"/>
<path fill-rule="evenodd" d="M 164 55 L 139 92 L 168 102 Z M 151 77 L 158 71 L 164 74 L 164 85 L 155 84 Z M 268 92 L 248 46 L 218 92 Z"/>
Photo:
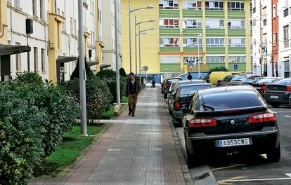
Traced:
<path fill-rule="evenodd" d="M 172 116 L 174 119 L 174 125 L 176 122 L 181 123 L 185 114 L 182 112 L 183 107 L 188 107 L 193 94 L 197 90 L 213 88 L 211 83 L 195 83 L 188 85 L 180 85 L 174 100 L 172 101 Z"/>

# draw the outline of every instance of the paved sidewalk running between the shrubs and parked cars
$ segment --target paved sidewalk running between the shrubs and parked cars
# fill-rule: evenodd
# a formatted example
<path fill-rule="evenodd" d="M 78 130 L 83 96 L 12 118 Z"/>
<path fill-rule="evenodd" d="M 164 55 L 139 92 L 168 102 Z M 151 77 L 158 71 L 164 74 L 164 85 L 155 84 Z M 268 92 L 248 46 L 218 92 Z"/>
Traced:
<path fill-rule="evenodd" d="M 124 111 L 61 179 L 29 185 L 186 184 L 179 156 L 162 95 L 145 88 L 136 117 Z"/>

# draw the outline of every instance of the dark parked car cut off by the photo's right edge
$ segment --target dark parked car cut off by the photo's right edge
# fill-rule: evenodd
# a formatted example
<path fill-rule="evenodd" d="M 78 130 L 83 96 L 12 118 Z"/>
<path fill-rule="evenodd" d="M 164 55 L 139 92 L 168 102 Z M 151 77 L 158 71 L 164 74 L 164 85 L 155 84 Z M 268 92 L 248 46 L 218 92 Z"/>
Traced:
<path fill-rule="evenodd" d="M 265 100 L 272 107 L 279 107 L 280 104 L 289 104 L 291 95 L 291 78 L 283 78 L 270 85 L 266 85 L 264 92 Z"/>

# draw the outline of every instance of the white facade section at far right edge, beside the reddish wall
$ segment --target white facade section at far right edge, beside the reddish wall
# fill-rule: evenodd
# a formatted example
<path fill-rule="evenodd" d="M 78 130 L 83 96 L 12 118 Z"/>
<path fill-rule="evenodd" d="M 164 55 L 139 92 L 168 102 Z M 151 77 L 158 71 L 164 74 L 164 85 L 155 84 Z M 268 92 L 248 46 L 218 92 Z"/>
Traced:
<path fill-rule="evenodd" d="M 290 19 L 291 19 L 291 1 L 280 0 L 279 6 L 279 64 L 278 71 L 281 77 L 290 76 L 290 57 L 291 57 L 291 43 L 290 43 Z"/>

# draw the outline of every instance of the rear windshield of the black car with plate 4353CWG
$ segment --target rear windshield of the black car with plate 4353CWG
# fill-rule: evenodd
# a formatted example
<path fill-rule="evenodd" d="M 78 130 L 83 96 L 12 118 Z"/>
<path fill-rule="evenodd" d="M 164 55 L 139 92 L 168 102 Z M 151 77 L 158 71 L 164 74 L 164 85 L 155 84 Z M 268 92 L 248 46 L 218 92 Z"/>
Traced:
<path fill-rule="evenodd" d="M 243 109 L 247 107 L 261 107 L 264 100 L 252 90 L 247 91 L 225 91 L 201 95 L 202 104 L 214 108 L 214 111 L 227 109 Z M 200 111 L 204 111 L 200 106 Z"/>

